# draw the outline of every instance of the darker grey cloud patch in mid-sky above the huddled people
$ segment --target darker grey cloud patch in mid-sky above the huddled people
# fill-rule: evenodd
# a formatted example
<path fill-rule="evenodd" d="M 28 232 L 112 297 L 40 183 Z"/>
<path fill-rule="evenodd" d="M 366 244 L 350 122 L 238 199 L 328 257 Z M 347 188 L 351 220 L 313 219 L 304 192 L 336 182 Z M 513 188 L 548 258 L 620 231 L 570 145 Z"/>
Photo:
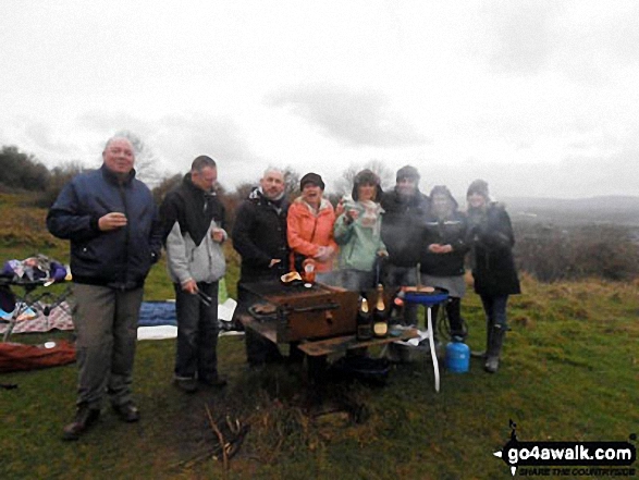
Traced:
<path fill-rule="evenodd" d="M 315 85 L 281 90 L 267 101 L 272 107 L 290 108 L 325 135 L 349 146 L 393 147 L 427 143 L 423 135 L 389 109 L 385 97 L 380 94 Z"/>

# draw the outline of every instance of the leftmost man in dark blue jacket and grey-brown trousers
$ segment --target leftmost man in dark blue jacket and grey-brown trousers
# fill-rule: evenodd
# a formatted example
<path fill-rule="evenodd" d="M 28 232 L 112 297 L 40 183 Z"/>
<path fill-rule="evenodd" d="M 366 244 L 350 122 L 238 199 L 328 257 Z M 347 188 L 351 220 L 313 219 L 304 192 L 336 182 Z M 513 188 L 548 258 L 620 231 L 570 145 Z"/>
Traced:
<path fill-rule="evenodd" d="M 111 138 L 102 160 L 100 169 L 66 184 L 47 216 L 49 232 L 71 241 L 79 373 L 77 413 L 65 440 L 98 420 L 105 392 L 122 420 L 139 418 L 131 396 L 137 319 L 162 230 L 150 190 L 135 179 L 131 143 Z"/>

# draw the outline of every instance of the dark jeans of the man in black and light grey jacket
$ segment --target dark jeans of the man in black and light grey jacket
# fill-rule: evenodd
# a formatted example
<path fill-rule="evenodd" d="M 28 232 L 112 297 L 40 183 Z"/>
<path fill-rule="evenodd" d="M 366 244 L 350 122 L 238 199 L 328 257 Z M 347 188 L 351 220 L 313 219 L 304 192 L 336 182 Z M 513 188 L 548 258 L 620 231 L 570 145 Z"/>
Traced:
<path fill-rule="evenodd" d="M 177 347 L 175 353 L 175 377 L 198 378 L 211 381 L 218 377 L 218 282 L 199 282 L 200 292 L 212 298 L 205 305 L 198 295 L 175 290 L 175 316 L 177 317 Z"/>

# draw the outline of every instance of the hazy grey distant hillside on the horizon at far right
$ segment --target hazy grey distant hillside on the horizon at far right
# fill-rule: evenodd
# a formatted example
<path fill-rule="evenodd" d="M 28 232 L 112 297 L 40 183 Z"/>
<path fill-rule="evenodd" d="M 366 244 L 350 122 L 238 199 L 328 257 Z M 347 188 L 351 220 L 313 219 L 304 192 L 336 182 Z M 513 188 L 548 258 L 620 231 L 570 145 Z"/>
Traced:
<path fill-rule="evenodd" d="M 503 197 L 500 201 L 506 205 L 513 220 L 639 226 L 639 197 L 605 196 L 581 199 Z"/>

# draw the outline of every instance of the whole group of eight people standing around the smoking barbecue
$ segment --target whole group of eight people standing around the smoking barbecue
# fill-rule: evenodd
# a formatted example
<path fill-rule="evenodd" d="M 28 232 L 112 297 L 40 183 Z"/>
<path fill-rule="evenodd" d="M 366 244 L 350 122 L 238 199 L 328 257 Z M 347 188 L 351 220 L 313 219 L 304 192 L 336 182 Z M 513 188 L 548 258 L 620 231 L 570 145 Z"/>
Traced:
<path fill-rule="evenodd" d="M 49 231 L 71 241 L 73 320 L 78 361 L 78 399 L 64 439 L 75 440 L 95 423 L 105 394 L 120 418 L 137 421 L 131 395 L 137 317 L 144 281 L 165 248 L 175 290 L 177 341 L 174 382 L 185 392 L 221 387 L 218 372 L 218 282 L 225 272 L 222 244 L 225 211 L 216 194 L 217 164 L 197 157 L 179 186 L 158 209 L 148 187 L 135 179 L 134 149 L 126 138 L 109 139 L 100 169 L 64 186 L 47 217 Z M 466 334 L 460 315 L 465 258 L 470 253 L 475 291 L 487 316 L 484 368 L 495 372 L 506 324 L 506 303 L 519 293 L 512 247 L 513 230 L 503 206 L 492 202 L 488 184 L 477 180 L 462 212 L 445 186 L 429 196 L 419 190 L 419 172 L 397 171 L 383 192 L 370 170 L 354 177 L 351 195 L 336 207 L 323 196 L 324 182 L 305 174 L 300 196 L 288 201 L 284 173 L 269 168 L 238 207 L 231 237 L 239 254 L 236 313 L 258 298 L 246 286 L 277 281 L 312 261 L 320 283 L 365 292 L 390 287 L 445 288 L 451 333 Z M 419 278 L 418 278 L 419 275 Z M 404 323 L 418 323 L 407 305 Z M 249 365 L 281 360 L 278 346 L 246 331 Z M 296 348 L 292 347 L 294 357 Z"/>

